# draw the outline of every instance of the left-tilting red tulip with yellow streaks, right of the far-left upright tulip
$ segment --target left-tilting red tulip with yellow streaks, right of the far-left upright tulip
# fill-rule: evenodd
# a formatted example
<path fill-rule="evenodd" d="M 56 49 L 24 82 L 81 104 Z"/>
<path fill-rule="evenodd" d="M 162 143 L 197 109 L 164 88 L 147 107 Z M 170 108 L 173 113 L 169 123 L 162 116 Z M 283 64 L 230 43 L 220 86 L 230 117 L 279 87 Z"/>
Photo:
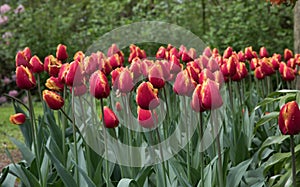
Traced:
<path fill-rule="evenodd" d="M 49 108 L 53 110 L 59 110 L 64 106 L 64 99 L 58 93 L 44 90 L 43 91 L 43 99 L 49 106 Z"/>

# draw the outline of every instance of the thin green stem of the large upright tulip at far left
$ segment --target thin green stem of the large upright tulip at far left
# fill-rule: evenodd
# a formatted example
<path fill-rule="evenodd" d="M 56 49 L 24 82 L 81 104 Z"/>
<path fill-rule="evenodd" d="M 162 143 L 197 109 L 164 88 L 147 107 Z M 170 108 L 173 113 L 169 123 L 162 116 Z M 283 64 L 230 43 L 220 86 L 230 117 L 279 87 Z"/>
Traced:
<path fill-rule="evenodd" d="M 32 127 L 32 138 L 33 138 L 33 146 L 34 146 L 34 153 L 36 155 L 36 166 L 37 166 L 37 171 L 40 179 L 40 184 L 43 183 L 43 177 L 42 177 L 42 172 L 40 169 L 40 149 L 38 147 L 38 141 L 37 141 L 37 125 L 35 123 L 35 115 L 34 115 L 34 107 L 32 103 L 32 96 L 30 93 L 30 90 L 27 90 L 27 96 L 28 96 L 28 103 L 29 103 L 29 115 L 30 115 L 30 123 Z"/>

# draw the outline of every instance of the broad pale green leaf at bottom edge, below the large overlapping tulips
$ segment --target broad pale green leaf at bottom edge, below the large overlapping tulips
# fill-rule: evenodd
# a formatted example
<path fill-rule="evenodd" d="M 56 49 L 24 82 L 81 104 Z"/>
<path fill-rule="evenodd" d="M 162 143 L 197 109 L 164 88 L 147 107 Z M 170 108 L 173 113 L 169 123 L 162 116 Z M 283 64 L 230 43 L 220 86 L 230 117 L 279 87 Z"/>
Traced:
<path fill-rule="evenodd" d="M 229 174 L 227 176 L 227 184 L 226 186 L 238 186 L 241 182 L 242 177 L 245 175 L 247 168 L 252 162 L 252 158 L 241 162 L 239 165 L 232 167 L 229 170 Z"/>

